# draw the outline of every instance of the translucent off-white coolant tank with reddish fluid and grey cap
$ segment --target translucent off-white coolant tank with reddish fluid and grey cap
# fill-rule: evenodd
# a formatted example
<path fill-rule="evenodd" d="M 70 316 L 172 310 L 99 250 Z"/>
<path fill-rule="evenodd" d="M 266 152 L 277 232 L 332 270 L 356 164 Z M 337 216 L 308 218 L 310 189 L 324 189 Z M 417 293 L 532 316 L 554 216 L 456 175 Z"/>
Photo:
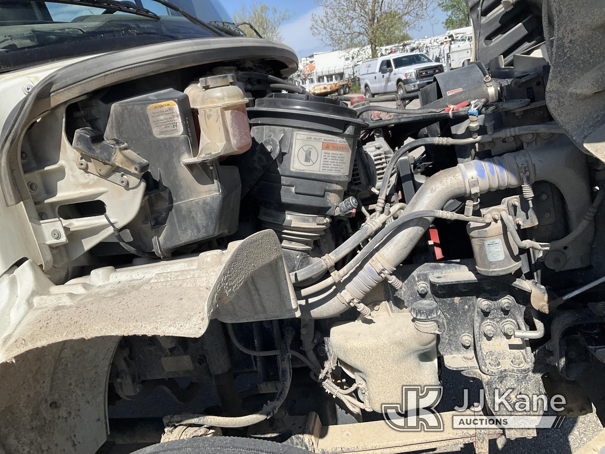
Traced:
<path fill-rule="evenodd" d="M 244 153 L 252 146 L 247 99 L 234 82 L 234 74 L 202 77 L 185 90 L 200 122 L 197 162 Z"/>

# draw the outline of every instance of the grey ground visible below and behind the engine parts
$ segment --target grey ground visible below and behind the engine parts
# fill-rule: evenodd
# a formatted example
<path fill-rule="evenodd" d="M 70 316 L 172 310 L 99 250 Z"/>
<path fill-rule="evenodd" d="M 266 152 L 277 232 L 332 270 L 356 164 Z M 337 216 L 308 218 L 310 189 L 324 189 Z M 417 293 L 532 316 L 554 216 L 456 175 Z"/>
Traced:
<path fill-rule="evenodd" d="M 361 93 L 352 93 L 350 96 L 361 96 Z M 387 107 L 395 107 L 394 101 L 379 102 L 378 105 L 384 105 Z M 414 99 L 407 108 L 420 107 L 418 99 Z M 443 371 L 443 386 L 445 392 L 448 389 L 457 390 L 463 387 L 474 389 L 475 392 L 479 392 L 480 383 L 475 381 L 469 383 L 467 377 L 464 377 L 458 372 L 452 370 Z M 471 393 L 472 395 L 472 393 Z M 449 411 L 453 408 L 448 408 L 458 404 L 457 402 L 446 402 L 446 397 L 442 401 L 445 406 L 441 407 L 441 411 Z M 538 435 L 535 438 L 526 439 L 506 439 L 504 436 L 491 440 L 489 450 L 490 452 L 500 452 L 502 454 L 522 454 L 522 453 L 549 453 L 549 454 L 571 454 L 589 442 L 599 432 L 603 430 L 601 422 L 597 418 L 597 414 L 594 411 L 584 416 L 577 418 L 566 418 L 563 424 L 558 429 L 539 429 Z M 434 451 L 444 452 L 444 451 Z M 474 453 L 473 446 L 465 446 L 457 451 L 446 450 L 445 452 L 460 452 L 460 453 Z M 604 451 L 605 452 L 605 451 Z"/>

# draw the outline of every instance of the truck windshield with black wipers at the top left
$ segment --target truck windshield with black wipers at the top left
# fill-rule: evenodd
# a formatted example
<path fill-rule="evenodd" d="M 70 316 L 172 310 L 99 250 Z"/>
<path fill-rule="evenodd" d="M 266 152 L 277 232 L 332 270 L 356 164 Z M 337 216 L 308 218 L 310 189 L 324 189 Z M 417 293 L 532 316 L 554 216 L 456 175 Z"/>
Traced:
<path fill-rule="evenodd" d="M 218 0 L 170 0 L 202 21 L 232 22 Z M 0 72 L 157 42 L 218 36 L 153 0 L 124 0 L 160 19 L 105 8 L 0 0 Z M 221 35 L 222 36 L 222 35 Z"/>

